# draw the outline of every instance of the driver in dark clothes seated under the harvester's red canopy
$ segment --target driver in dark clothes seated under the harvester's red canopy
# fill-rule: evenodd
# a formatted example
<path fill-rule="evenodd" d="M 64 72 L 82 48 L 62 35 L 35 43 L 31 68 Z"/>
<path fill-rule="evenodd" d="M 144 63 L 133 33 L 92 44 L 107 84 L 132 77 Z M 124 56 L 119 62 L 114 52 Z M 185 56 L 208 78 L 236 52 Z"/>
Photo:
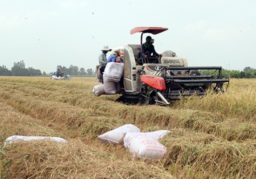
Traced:
<path fill-rule="evenodd" d="M 155 42 L 155 40 L 154 39 L 152 40 L 151 36 L 148 36 L 146 38 L 146 42 L 144 44 L 142 44 L 142 48 L 141 48 L 142 58 L 148 59 L 149 57 L 155 57 L 155 58 L 162 57 L 161 54 L 158 54 L 156 52 L 155 47 L 153 45 L 154 42 Z"/>

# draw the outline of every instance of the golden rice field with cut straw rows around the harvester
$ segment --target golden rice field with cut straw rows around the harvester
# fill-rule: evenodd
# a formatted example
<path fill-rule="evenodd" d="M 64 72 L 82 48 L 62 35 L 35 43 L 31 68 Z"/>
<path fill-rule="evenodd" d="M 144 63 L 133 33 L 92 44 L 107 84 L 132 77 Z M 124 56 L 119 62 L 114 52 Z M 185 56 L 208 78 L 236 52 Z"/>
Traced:
<path fill-rule="evenodd" d="M 256 178 L 256 79 L 231 79 L 224 94 L 125 105 L 96 97 L 94 77 L 0 77 L 1 178 Z M 124 124 L 170 130 L 163 160 L 133 158 L 97 136 Z M 17 142 L 12 135 L 56 136 Z"/>

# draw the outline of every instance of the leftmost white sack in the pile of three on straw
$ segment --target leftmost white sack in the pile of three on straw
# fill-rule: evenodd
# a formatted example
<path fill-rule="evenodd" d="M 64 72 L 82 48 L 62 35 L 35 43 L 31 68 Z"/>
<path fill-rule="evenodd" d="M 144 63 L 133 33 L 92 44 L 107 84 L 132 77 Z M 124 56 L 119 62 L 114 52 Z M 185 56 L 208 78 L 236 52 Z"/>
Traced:
<path fill-rule="evenodd" d="M 98 138 L 106 143 L 119 143 L 126 133 L 141 132 L 141 130 L 133 124 L 125 124 L 116 129 L 101 134 Z"/>

